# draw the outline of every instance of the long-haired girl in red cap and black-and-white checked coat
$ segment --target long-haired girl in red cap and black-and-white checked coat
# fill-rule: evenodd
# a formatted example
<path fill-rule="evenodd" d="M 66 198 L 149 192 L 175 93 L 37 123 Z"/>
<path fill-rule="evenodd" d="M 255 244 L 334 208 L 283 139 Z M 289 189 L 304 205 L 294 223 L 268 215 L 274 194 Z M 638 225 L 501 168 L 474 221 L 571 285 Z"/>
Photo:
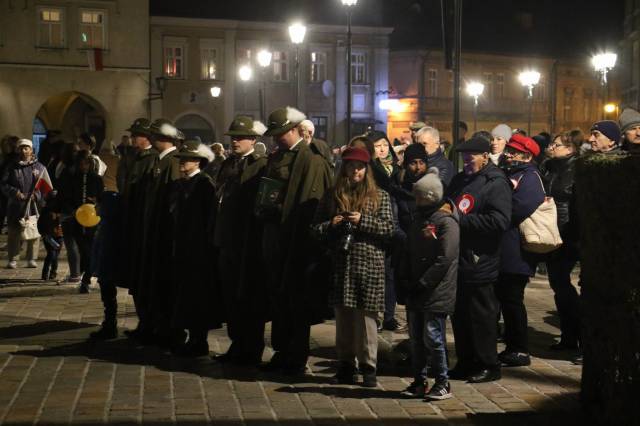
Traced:
<path fill-rule="evenodd" d="M 318 206 L 314 230 L 328 243 L 333 260 L 330 303 L 336 314 L 339 383 L 375 387 L 378 313 L 384 311 L 385 247 L 393 234 L 389 195 L 378 188 L 371 155 L 348 148 L 335 186 Z"/>

